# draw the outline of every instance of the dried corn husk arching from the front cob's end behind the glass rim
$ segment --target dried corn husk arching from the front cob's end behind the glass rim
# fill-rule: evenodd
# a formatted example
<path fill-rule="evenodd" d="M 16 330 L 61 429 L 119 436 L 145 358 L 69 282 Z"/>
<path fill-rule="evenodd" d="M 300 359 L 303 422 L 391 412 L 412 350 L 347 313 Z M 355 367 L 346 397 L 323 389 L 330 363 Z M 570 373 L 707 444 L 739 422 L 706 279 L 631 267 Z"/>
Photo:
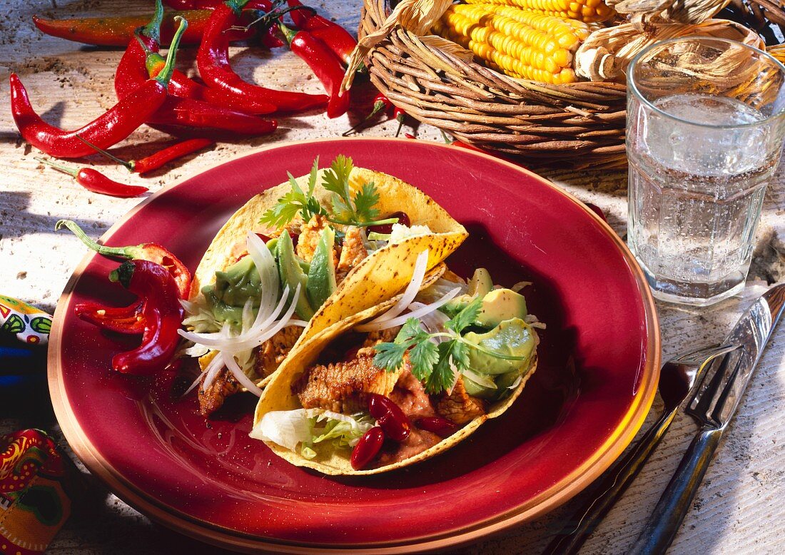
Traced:
<path fill-rule="evenodd" d="M 575 53 L 575 72 L 592 81 L 617 81 L 626 78 L 626 68 L 638 53 L 655 42 L 668 38 L 702 36 L 729 38 L 736 42 L 764 49 L 763 39 L 741 24 L 727 20 L 707 20 L 699 24 L 645 24 L 641 31 L 628 23 L 595 31 Z M 725 73 L 730 79 L 737 64 L 727 60 L 714 73 Z M 707 68 L 707 71 L 710 68 Z"/>

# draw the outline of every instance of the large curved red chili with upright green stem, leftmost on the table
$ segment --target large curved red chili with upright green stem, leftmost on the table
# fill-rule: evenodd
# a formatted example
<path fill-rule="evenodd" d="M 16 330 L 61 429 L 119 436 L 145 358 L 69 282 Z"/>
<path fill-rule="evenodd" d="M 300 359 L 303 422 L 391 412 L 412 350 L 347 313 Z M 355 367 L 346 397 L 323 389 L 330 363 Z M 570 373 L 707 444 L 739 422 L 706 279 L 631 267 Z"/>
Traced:
<path fill-rule="evenodd" d="M 186 27 L 188 24 L 181 19 L 177 35 L 172 41 L 173 46 L 166 58 L 164 71 L 155 79 L 145 81 L 142 86 L 133 90 L 104 115 L 75 131 L 61 130 L 41 119 L 41 116 L 33 110 L 30 98 L 27 97 L 27 90 L 24 89 L 19 77 L 12 73 L 11 111 L 22 138 L 35 148 L 57 158 L 79 158 L 91 154 L 93 149 L 80 141 L 77 135 L 100 148 L 109 148 L 112 144 L 128 137 L 150 119 L 166 101 L 166 87 L 169 85 L 174 68 L 177 44 Z"/>

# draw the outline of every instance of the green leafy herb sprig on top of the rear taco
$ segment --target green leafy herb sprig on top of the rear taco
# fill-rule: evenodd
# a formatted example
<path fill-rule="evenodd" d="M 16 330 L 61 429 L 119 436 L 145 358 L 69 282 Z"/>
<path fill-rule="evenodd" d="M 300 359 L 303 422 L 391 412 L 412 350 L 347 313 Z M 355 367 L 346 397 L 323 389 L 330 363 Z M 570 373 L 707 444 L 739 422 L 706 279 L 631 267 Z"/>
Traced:
<path fill-rule="evenodd" d="M 321 214 L 333 224 L 355 225 L 360 228 L 369 225 L 396 223 L 398 219 L 395 217 L 374 221 L 374 218 L 379 215 L 379 211 L 374 208 L 379 202 L 379 194 L 373 182 L 363 184 L 360 190 L 352 196 L 349 187 L 349 174 L 352 173 L 353 167 L 354 163 L 351 158 L 338 155 L 330 164 L 330 170 L 324 173 L 323 187 L 333 193 L 332 210 L 329 212 L 313 196 L 319 171 L 318 157 L 313 162 L 307 194 L 301 189 L 291 173 L 287 173 L 292 190 L 278 199 L 276 205 L 262 215 L 260 223 L 280 228 L 292 221 L 298 212 L 304 221 L 309 221 L 312 216 Z"/>

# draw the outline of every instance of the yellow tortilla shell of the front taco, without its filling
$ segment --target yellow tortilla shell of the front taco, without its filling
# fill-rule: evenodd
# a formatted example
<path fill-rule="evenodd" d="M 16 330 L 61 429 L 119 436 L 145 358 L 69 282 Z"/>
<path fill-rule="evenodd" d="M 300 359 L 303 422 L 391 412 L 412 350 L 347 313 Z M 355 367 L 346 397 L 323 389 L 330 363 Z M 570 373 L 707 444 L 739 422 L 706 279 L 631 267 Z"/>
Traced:
<path fill-rule="evenodd" d="M 262 393 L 254 413 L 254 427 L 268 412 L 293 411 L 298 408 L 302 408 L 298 396 L 292 392 L 292 384 L 297 382 L 301 374 L 303 374 L 309 367 L 316 363 L 316 360 L 319 358 L 319 353 L 322 352 L 331 341 L 334 341 L 334 339 L 338 338 L 338 336 L 341 334 L 351 330 L 352 327 L 355 327 L 357 324 L 360 324 L 365 320 L 372 319 L 374 316 L 385 312 L 385 310 L 389 309 L 392 307 L 392 305 L 395 304 L 398 298 L 400 298 L 400 296 L 392 298 L 390 301 L 382 303 L 382 305 L 375 306 L 371 309 L 360 312 L 359 314 L 350 316 L 349 318 L 334 324 L 326 330 L 321 331 L 319 334 L 314 335 L 309 341 L 305 341 L 301 345 L 295 346 L 295 349 L 290 352 L 290 356 L 287 357 L 287 360 L 283 361 L 283 364 L 279 367 L 275 377 L 271 382 L 268 383 L 264 393 Z M 414 464 L 415 462 L 424 461 L 427 458 L 439 455 L 443 451 L 447 451 L 447 449 L 455 446 L 462 440 L 465 440 L 466 437 L 474 433 L 474 431 L 479 428 L 480 425 L 488 418 L 497 418 L 503 414 L 504 411 L 512 406 L 518 396 L 520 396 L 520 393 L 524 390 L 526 382 L 528 382 L 531 374 L 535 373 L 536 369 L 537 352 L 535 350 L 532 354 L 528 371 L 526 374 L 524 374 L 523 378 L 521 378 L 520 384 L 517 385 L 516 389 L 513 390 L 513 393 L 509 397 L 497 401 L 496 403 L 492 403 L 490 407 L 488 407 L 487 414 L 482 414 L 476 418 L 473 418 L 473 420 L 469 421 L 466 425 L 459 429 L 458 432 L 447 438 L 444 438 L 433 447 L 418 453 L 418 455 L 414 455 L 414 457 L 410 457 L 390 465 L 367 470 L 352 469 L 352 465 L 349 462 L 348 452 L 345 449 L 334 449 L 332 444 L 320 444 L 318 454 L 315 458 L 312 459 L 305 458 L 299 453 L 290 451 L 286 447 L 282 447 L 269 441 L 265 441 L 265 444 L 267 444 L 267 446 L 270 447 L 270 449 L 272 449 L 276 455 L 287 460 L 293 465 L 305 466 L 318 470 L 320 473 L 324 474 L 360 476 L 400 469 L 404 466 Z"/>

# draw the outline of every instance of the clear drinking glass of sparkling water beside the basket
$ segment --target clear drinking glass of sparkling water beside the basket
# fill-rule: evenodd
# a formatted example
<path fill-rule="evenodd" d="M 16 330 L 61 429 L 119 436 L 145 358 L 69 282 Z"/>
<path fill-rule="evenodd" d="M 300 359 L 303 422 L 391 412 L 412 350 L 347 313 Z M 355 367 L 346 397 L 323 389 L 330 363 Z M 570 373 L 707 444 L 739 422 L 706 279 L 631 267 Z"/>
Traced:
<path fill-rule="evenodd" d="M 627 243 L 652 294 L 710 305 L 744 287 L 785 135 L 785 67 L 723 38 L 658 42 L 627 71 Z"/>

